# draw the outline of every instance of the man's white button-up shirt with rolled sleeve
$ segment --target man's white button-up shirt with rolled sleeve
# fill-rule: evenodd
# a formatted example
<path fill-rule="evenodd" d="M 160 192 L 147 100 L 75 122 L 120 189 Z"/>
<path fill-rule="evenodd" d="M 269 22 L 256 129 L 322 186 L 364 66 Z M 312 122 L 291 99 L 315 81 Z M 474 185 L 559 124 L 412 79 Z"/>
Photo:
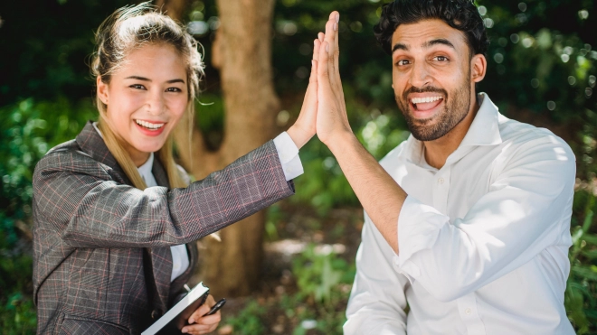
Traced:
<path fill-rule="evenodd" d="M 441 169 L 412 135 L 381 161 L 408 194 L 400 255 L 365 213 L 345 334 L 574 333 L 564 310 L 574 155 L 487 95 L 479 102 Z"/>

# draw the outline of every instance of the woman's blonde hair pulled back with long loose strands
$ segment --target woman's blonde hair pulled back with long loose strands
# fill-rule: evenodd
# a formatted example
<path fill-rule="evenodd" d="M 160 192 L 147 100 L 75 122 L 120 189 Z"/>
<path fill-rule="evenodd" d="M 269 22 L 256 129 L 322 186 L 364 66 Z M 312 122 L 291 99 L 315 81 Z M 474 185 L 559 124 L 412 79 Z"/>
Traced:
<path fill-rule="evenodd" d="M 100 24 L 95 38 L 97 50 L 91 58 L 91 75 L 94 78 L 100 78 L 105 84 L 109 84 L 112 73 L 118 70 L 130 51 L 137 50 L 148 44 L 174 46 L 175 50 L 185 60 L 186 65 L 189 93 L 188 105 L 185 110 L 186 117 L 183 117 L 183 119 L 189 120 L 187 126 L 193 126 L 194 98 L 199 93 L 199 82 L 204 76 L 204 62 L 202 55 L 197 51 L 198 43 L 193 36 L 186 33 L 184 26 L 175 23 L 170 17 L 158 12 L 155 6 L 147 2 L 122 7 L 109 15 Z M 123 140 L 118 138 L 108 125 L 106 116 L 108 106 L 100 100 L 100 97 L 96 97 L 96 105 L 100 112 L 98 127 L 109 152 L 116 158 L 133 186 L 140 190 L 146 189 L 147 185 L 141 178 L 137 166 L 121 143 Z M 187 134 L 192 133 L 189 131 Z M 168 136 L 166 143 L 157 151 L 156 155 L 164 165 L 170 187 L 186 187 L 188 185 L 185 178 L 181 175 L 174 160 L 172 136 L 172 134 Z"/>

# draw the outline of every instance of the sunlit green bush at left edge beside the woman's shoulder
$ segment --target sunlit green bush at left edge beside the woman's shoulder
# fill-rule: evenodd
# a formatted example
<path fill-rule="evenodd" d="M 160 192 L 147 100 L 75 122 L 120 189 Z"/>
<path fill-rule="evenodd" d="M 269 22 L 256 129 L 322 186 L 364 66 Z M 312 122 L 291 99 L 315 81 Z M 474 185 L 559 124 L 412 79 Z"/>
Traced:
<path fill-rule="evenodd" d="M 34 333 L 32 177 L 35 164 L 56 144 L 74 138 L 97 115 L 90 101 L 26 99 L 0 108 L 0 329 Z"/>

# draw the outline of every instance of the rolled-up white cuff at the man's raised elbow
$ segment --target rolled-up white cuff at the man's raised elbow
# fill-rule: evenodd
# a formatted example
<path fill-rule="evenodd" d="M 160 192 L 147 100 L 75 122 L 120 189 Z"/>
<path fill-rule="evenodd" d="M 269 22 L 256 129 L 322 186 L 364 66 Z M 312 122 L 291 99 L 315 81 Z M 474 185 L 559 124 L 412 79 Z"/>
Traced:
<path fill-rule="evenodd" d="M 414 278 L 421 275 L 419 267 L 409 259 L 415 253 L 433 247 L 440 235 L 441 227 L 449 220 L 437 209 L 407 196 L 398 216 L 398 250 L 400 254 L 394 258 L 394 262 Z"/>

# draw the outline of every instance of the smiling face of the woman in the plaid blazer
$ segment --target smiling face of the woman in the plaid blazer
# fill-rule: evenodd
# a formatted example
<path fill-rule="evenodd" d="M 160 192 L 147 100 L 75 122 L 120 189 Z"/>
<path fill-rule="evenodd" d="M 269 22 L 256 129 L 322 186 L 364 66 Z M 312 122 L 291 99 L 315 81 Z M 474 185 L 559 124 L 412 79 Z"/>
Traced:
<path fill-rule="evenodd" d="M 158 151 L 185 113 L 188 88 L 184 59 L 167 44 L 131 51 L 111 76 L 98 78 L 110 129 L 138 166 Z"/>

